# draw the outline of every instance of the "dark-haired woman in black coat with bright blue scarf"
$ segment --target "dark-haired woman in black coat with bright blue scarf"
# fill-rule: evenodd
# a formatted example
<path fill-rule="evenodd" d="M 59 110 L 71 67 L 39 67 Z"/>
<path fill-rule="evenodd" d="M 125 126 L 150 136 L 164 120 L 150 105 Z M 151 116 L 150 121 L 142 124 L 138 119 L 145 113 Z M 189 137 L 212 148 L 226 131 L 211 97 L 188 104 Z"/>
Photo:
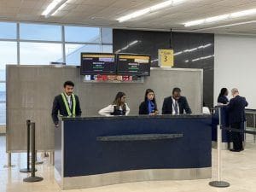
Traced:
<path fill-rule="evenodd" d="M 155 102 L 154 90 L 148 89 L 145 92 L 144 102 L 140 104 L 139 114 L 158 114 L 157 104 Z"/>

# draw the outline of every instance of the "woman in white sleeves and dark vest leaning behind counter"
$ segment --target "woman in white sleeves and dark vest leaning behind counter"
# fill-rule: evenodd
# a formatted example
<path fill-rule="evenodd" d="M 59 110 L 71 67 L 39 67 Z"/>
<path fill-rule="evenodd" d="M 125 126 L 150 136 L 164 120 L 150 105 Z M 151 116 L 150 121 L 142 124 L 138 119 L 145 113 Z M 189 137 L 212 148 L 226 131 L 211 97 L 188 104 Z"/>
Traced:
<path fill-rule="evenodd" d="M 102 108 L 99 111 L 99 114 L 104 116 L 128 115 L 130 113 L 130 108 L 127 103 L 125 103 L 125 98 L 126 96 L 124 92 L 118 92 L 113 103 L 106 108 Z"/>

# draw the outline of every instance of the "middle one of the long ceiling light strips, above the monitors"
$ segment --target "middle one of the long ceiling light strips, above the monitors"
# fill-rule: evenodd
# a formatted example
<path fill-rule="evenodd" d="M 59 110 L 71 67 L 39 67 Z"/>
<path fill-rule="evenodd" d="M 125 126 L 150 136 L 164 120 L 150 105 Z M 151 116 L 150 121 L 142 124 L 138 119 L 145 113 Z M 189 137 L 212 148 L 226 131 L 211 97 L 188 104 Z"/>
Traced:
<path fill-rule="evenodd" d="M 163 3 L 155 4 L 146 9 L 137 10 L 136 12 L 133 12 L 130 15 L 125 15 L 125 16 L 118 18 L 117 20 L 119 20 L 119 22 L 125 22 L 126 20 L 131 20 L 131 19 L 137 18 L 142 15 L 146 15 L 148 13 L 152 13 L 152 12 L 160 10 L 160 9 L 166 9 L 166 7 L 169 7 L 169 6 L 175 6 L 179 3 L 183 3 L 184 1 L 187 1 L 187 0 L 168 0 Z"/>

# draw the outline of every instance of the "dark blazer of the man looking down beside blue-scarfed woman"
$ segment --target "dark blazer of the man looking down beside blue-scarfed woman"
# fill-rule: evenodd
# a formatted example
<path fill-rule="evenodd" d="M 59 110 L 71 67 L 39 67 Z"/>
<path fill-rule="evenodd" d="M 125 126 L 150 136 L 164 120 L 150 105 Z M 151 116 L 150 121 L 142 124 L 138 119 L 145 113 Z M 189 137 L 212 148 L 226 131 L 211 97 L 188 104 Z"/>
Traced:
<path fill-rule="evenodd" d="M 187 99 L 185 96 L 181 96 L 177 100 L 179 113 L 183 114 L 184 111 L 186 113 L 192 113 L 191 109 L 189 108 L 189 103 L 187 102 Z M 172 114 L 172 96 L 166 97 L 163 102 L 162 107 L 162 114 Z"/>

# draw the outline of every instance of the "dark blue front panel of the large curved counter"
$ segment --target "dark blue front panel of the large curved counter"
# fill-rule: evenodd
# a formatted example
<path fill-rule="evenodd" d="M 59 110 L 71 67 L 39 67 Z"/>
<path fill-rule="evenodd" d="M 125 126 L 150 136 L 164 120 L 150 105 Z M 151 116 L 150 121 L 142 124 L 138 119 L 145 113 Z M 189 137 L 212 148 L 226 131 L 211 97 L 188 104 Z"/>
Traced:
<path fill-rule="evenodd" d="M 211 116 L 73 118 L 63 119 L 62 125 L 63 177 L 212 166 Z M 183 134 L 183 137 L 152 141 L 97 141 L 97 137 L 172 133 Z M 58 129 L 55 141 L 60 142 L 60 137 Z M 56 148 L 60 149 L 60 146 Z M 55 159 L 55 167 L 61 173 L 61 157 Z"/>

